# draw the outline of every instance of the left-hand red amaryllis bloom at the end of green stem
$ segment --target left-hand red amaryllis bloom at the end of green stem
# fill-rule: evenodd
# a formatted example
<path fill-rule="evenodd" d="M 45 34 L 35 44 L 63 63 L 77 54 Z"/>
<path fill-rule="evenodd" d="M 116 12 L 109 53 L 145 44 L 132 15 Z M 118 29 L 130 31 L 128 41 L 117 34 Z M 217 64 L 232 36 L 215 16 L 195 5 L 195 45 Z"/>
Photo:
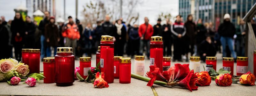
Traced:
<path fill-rule="evenodd" d="M 147 77 L 150 78 L 150 80 L 148 81 L 147 86 L 152 86 L 154 84 L 154 81 L 158 80 L 158 81 L 164 81 L 164 82 L 168 82 L 164 76 L 161 74 L 159 68 L 156 67 L 156 64 L 154 64 L 154 66 L 149 66 L 150 71 L 147 72 Z"/>

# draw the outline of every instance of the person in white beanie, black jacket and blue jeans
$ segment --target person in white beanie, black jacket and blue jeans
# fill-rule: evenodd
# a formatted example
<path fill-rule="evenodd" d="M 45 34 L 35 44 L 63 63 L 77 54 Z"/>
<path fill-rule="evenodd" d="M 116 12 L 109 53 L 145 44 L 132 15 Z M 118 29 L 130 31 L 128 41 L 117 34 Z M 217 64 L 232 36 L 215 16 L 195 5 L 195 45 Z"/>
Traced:
<path fill-rule="evenodd" d="M 234 51 L 234 38 L 233 36 L 236 33 L 235 26 L 230 22 L 230 15 L 225 14 L 224 15 L 224 21 L 222 24 L 220 24 L 218 28 L 218 33 L 220 34 L 220 42 L 222 45 L 222 54 L 223 57 L 227 56 L 226 53 L 226 44 L 228 44 L 228 48 L 232 54 L 232 57 L 236 59 L 236 53 Z"/>

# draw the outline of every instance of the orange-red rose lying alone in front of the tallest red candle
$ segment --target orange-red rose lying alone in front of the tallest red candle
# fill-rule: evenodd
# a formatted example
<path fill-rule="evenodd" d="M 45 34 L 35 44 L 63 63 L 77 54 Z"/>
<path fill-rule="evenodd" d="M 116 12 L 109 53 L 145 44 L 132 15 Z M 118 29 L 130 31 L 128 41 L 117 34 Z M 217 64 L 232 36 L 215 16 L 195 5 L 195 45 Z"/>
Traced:
<path fill-rule="evenodd" d="M 96 85 L 98 88 L 108 87 L 108 83 L 104 80 L 104 73 L 97 72 L 96 79 L 94 80 L 94 86 Z"/>

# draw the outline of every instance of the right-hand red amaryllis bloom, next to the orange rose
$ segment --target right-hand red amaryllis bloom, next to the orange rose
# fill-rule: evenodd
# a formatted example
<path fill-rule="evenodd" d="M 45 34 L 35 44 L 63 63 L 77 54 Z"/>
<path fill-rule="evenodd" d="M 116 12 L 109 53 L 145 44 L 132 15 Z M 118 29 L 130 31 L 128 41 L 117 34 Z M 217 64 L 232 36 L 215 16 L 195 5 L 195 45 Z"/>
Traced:
<path fill-rule="evenodd" d="M 194 74 L 194 70 L 191 70 L 184 79 L 179 81 L 177 85 L 180 87 L 185 87 L 190 91 L 197 90 L 198 86 L 195 86 L 197 80 L 198 78 Z"/>

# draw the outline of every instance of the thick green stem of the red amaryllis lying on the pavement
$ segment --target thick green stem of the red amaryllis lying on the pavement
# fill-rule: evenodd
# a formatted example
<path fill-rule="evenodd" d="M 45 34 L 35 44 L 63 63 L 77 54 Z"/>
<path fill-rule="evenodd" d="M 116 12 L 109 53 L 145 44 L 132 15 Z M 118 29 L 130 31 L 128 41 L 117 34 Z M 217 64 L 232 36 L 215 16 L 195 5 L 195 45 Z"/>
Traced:
<path fill-rule="evenodd" d="M 137 74 L 134 74 L 134 73 L 131 73 L 131 77 L 132 78 L 135 78 L 135 79 L 139 79 L 139 80 L 142 80 L 142 81 L 146 81 L 148 82 L 150 80 L 150 78 L 148 77 L 144 77 L 144 76 L 140 76 L 140 75 L 137 75 Z M 166 82 L 162 82 L 162 81 L 155 81 L 154 84 L 158 84 L 158 85 L 166 85 Z"/>

